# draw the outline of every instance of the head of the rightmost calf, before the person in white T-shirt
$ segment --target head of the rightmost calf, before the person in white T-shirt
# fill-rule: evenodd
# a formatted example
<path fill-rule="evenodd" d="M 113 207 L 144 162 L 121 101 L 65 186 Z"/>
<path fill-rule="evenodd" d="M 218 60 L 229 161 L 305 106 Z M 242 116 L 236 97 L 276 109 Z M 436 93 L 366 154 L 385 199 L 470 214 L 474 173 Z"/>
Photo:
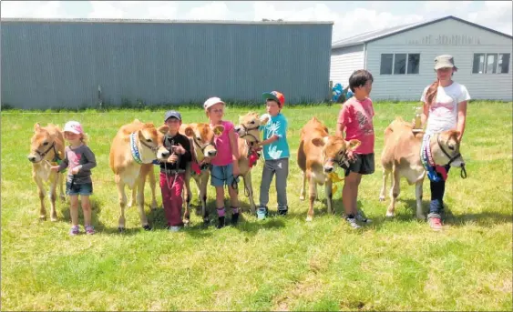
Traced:
<path fill-rule="evenodd" d="M 456 167 L 465 166 L 465 161 L 459 153 L 459 144 L 457 140 L 459 132 L 457 130 L 448 130 L 439 133 L 436 137 L 437 144 L 433 146 L 433 160 L 437 165 L 450 165 Z"/>

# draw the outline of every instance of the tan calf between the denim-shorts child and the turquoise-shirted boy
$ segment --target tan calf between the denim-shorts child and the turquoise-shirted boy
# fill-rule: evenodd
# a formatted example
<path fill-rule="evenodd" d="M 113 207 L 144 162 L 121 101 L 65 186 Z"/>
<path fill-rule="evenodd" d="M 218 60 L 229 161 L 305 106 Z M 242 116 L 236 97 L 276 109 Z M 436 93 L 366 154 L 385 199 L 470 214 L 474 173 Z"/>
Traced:
<path fill-rule="evenodd" d="M 253 199 L 253 186 L 251 184 L 251 168 L 254 166 L 254 158 L 251 158 L 251 147 L 261 141 L 259 127 L 265 125 L 269 117 L 260 119 L 257 113 L 250 112 L 239 117 L 239 125 L 235 126 L 235 132 L 239 135 L 239 171 L 244 181 L 244 190 L 250 200 L 251 214 L 256 213 Z M 258 156 L 252 156 L 258 157 Z"/>

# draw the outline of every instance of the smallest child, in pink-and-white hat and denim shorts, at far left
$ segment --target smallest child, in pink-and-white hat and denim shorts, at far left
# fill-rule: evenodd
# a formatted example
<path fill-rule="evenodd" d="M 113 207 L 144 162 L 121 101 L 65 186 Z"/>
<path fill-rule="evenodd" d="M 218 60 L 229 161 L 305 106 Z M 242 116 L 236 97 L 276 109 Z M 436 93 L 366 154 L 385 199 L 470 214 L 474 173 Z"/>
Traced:
<path fill-rule="evenodd" d="M 61 171 L 68 168 L 66 194 L 69 196 L 71 206 L 71 229 L 69 235 L 80 234 L 78 226 L 78 196 L 82 203 L 84 212 L 84 229 L 86 234 L 95 233 L 91 225 L 91 203 L 89 196 L 93 194 L 93 181 L 91 180 L 91 169 L 97 166 L 96 156 L 87 146 L 87 136 L 82 125 L 77 121 L 69 121 L 64 126 L 64 137 L 69 146 L 66 146 L 65 157 L 59 166 L 51 166 L 52 170 Z"/>

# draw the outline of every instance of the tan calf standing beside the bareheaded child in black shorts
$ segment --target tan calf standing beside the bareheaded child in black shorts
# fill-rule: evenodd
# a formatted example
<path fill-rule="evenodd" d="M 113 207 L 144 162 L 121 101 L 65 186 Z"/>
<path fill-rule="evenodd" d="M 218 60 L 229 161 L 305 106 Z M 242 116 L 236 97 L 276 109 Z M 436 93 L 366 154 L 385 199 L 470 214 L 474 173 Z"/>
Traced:
<path fill-rule="evenodd" d="M 315 117 L 303 126 L 297 152 L 297 163 L 303 176 L 301 200 L 304 200 L 306 180 L 310 186 L 310 207 L 306 221 L 313 220 L 313 202 L 317 197 L 317 185 L 325 186 L 328 213 L 333 213 L 333 181 L 329 174 L 340 164 L 348 165 L 347 152 L 359 145 L 360 141 L 358 140 L 346 142 L 342 137 L 330 136 L 328 128 Z"/>

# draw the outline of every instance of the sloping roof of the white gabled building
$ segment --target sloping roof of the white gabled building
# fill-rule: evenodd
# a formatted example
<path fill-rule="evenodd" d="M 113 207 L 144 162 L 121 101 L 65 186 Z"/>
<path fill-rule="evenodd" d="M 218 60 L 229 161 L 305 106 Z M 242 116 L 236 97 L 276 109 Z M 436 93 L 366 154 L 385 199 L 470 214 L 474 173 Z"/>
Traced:
<path fill-rule="evenodd" d="M 468 22 L 464 19 L 458 18 L 453 15 L 448 15 L 445 17 L 439 17 L 439 18 L 435 18 L 435 19 L 422 21 L 422 22 L 417 22 L 417 23 L 412 23 L 412 24 L 407 24 L 407 25 L 398 25 L 395 27 L 374 30 L 374 31 L 367 32 L 367 33 L 360 34 L 360 35 L 354 35 L 354 36 L 333 42 L 332 49 L 339 48 L 339 47 L 345 47 L 345 46 L 352 46 L 352 45 L 364 45 L 364 44 L 367 44 L 369 42 L 372 42 L 372 41 L 375 41 L 378 39 L 383 39 L 387 36 L 401 34 L 406 31 L 413 30 L 413 29 L 416 29 L 419 27 L 423 27 L 426 25 L 431 25 L 431 24 L 435 24 L 437 22 L 445 21 L 446 19 L 454 19 L 459 22 L 465 23 L 467 25 L 473 25 L 473 26 L 479 27 L 481 29 L 487 30 L 494 34 L 504 35 L 504 36 L 508 37 L 509 39 L 513 38 L 513 36 L 511 36 L 511 35 L 507 35 L 507 34 L 498 32 L 497 30 L 493 30 L 493 29 L 487 28 L 482 25 L 477 25 L 477 24 Z"/>

